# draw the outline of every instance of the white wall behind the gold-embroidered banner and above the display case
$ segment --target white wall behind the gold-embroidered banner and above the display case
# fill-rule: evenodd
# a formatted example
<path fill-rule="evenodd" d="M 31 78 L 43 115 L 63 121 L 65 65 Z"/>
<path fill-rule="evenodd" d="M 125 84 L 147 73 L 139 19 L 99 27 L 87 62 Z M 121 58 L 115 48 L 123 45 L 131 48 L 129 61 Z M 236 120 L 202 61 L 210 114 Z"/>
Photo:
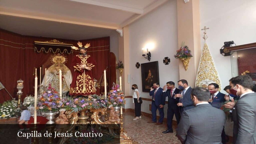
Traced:
<path fill-rule="evenodd" d="M 229 85 L 231 58 L 222 56 L 220 48 L 224 42 L 233 40 L 236 45 L 256 42 L 256 1 L 255 0 L 201 0 L 201 28 L 207 30 L 207 44 L 215 61 L 222 89 Z M 201 37 L 203 32 L 201 32 Z M 201 46 L 204 40 L 201 39 Z M 225 91 L 221 91 L 226 93 Z"/>

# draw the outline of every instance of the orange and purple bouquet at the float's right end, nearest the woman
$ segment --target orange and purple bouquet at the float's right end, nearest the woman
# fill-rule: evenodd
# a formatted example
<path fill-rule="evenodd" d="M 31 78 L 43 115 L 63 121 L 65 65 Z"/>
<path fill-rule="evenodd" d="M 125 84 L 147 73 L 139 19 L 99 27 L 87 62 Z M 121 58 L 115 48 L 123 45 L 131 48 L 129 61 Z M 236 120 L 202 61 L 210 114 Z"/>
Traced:
<path fill-rule="evenodd" d="M 108 107 L 120 107 L 125 104 L 124 93 L 119 84 L 113 84 L 112 90 L 108 93 Z"/>

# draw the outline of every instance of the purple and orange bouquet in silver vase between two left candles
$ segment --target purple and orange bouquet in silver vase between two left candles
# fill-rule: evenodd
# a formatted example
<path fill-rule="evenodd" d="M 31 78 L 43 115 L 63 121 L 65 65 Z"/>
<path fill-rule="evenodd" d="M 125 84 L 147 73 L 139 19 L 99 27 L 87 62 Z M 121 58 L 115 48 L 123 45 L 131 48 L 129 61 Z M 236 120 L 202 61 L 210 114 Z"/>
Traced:
<path fill-rule="evenodd" d="M 39 97 L 36 109 L 46 112 L 57 111 L 63 107 L 64 105 L 58 96 L 58 92 L 49 84 L 47 90 Z"/>

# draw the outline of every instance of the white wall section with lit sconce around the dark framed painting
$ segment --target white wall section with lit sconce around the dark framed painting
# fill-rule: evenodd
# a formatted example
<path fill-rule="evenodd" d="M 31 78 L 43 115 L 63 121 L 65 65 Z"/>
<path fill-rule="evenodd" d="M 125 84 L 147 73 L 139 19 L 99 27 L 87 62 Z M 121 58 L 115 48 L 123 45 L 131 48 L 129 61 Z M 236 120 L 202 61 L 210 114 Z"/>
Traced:
<path fill-rule="evenodd" d="M 139 62 L 149 61 L 142 56 L 142 48 L 147 43 L 154 43 L 155 47 L 150 49 L 151 61 L 158 61 L 160 87 L 167 81 L 179 80 L 178 60 L 173 57 L 178 49 L 177 39 L 177 4 L 176 0 L 170 0 L 151 13 L 140 18 L 129 26 L 130 32 L 130 84 L 137 84 L 143 98 L 150 98 L 148 92 L 142 92 L 141 67 L 136 68 Z M 164 57 L 170 58 L 170 64 L 164 65 Z M 133 94 L 131 89 L 130 94 Z M 134 109 L 131 98 L 126 98 L 125 108 Z M 143 101 L 141 110 L 151 114 L 149 105 L 151 101 Z M 130 105 L 127 106 L 127 105 Z M 167 105 L 164 106 L 165 117 L 167 116 Z"/>

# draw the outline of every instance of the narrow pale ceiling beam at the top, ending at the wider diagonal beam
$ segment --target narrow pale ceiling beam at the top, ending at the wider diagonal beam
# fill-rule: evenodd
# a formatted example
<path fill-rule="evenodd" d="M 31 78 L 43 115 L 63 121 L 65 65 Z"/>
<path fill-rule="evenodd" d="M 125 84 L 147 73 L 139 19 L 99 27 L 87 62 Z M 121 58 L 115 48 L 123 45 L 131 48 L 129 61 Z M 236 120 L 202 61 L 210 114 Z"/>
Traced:
<path fill-rule="evenodd" d="M 105 2 L 100 2 L 100 1 L 96 1 L 96 0 L 69 0 L 69 1 L 74 1 L 74 2 L 79 2 L 79 3 L 84 3 L 84 4 L 97 5 L 97 6 L 103 6 L 103 7 L 108 7 L 108 8 L 114 8 L 114 9 L 130 12 L 130 13 L 135 13 L 135 14 L 142 14 L 143 13 L 143 9 L 132 8 L 132 7 L 116 5 L 116 4 L 111 4 L 111 3 L 105 3 Z"/>

